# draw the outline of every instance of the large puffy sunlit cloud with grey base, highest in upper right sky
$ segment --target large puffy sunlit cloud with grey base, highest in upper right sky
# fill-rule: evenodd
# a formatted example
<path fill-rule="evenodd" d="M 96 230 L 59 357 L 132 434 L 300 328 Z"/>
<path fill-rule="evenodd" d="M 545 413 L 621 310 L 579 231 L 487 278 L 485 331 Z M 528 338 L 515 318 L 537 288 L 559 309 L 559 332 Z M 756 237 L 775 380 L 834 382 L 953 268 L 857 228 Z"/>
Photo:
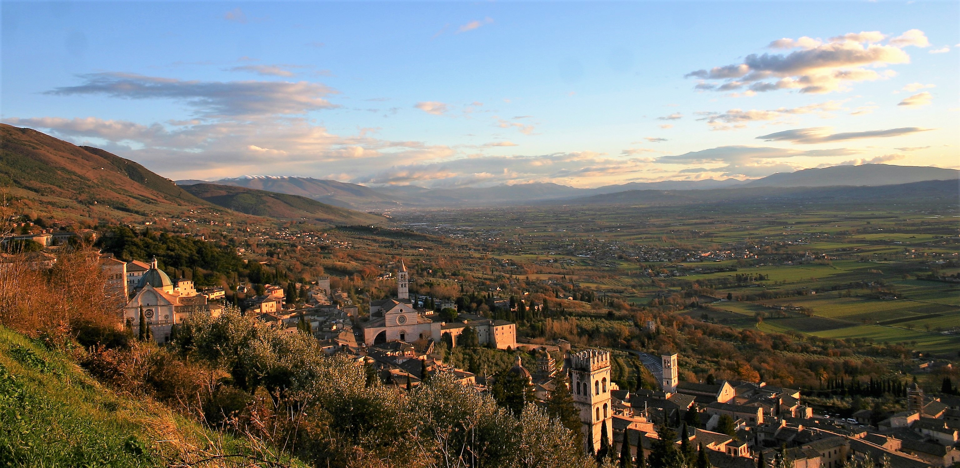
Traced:
<path fill-rule="evenodd" d="M 878 73 L 874 68 L 910 62 L 902 47 L 925 47 L 920 30 L 910 30 L 887 44 L 877 44 L 884 35 L 878 32 L 851 33 L 830 37 L 828 41 L 811 37 L 781 38 L 769 44 L 774 49 L 797 49 L 788 54 L 751 54 L 743 62 L 696 70 L 686 77 L 699 78 L 696 89 L 764 92 L 799 89 L 806 93 L 826 93 L 849 89 L 856 82 L 882 80 L 894 76 L 892 70 Z M 737 94 L 743 95 L 743 94 Z"/>

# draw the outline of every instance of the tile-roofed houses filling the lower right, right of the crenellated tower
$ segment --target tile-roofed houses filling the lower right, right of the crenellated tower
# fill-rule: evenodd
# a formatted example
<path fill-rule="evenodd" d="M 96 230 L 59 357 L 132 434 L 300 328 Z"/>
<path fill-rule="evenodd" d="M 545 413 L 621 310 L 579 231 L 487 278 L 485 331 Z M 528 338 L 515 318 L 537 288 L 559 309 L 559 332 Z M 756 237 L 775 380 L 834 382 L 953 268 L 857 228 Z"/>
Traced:
<path fill-rule="evenodd" d="M 689 427 L 688 441 L 709 449 L 710 464 L 720 468 L 756 468 L 761 453 L 768 465 L 780 456 L 791 468 L 839 468 L 852 458 L 894 468 L 960 462 L 960 397 L 931 397 L 914 384 L 909 409 L 872 428 L 870 410 L 854 413 L 856 422 L 814 415 L 797 389 L 763 382 L 678 382 L 677 355 L 661 359 L 660 390 L 611 392 L 617 453 L 626 439 L 633 456 L 639 447 L 649 456 L 657 427 L 681 429 L 684 421 L 697 420 L 702 427 Z M 722 418 L 728 425 L 721 424 Z M 675 442 L 680 444 L 682 437 Z"/>

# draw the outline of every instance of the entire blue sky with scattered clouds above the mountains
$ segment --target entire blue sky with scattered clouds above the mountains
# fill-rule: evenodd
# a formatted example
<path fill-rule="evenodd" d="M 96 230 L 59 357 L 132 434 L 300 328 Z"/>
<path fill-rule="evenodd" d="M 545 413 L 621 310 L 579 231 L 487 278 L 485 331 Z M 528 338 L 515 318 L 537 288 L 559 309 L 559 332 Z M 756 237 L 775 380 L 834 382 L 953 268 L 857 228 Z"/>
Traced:
<path fill-rule="evenodd" d="M 960 168 L 960 3 L 0 3 L 0 121 L 174 180 Z"/>

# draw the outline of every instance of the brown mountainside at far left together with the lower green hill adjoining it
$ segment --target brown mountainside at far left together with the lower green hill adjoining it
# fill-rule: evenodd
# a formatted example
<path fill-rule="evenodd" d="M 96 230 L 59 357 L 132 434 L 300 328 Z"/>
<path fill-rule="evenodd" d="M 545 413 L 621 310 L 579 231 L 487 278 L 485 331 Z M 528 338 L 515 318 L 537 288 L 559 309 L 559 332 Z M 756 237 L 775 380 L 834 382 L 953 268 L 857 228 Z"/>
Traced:
<path fill-rule="evenodd" d="M 100 148 L 6 124 L 0 124 L 0 187 L 36 211 L 90 220 L 138 222 L 178 217 L 190 209 L 226 208 L 330 225 L 389 222 L 299 196 L 224 185 L 176 185 Z"/>

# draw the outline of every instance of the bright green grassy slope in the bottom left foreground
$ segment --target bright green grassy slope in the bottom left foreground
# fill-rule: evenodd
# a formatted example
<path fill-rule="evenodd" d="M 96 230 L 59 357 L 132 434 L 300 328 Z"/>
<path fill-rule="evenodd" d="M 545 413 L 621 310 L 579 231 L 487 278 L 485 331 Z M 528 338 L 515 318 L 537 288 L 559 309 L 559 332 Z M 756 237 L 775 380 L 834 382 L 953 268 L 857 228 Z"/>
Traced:
<path fill-rule="evenodd" d="M 0 428 L 0 466 L 187 466 L 204 458 L 204 466 L 261 466 L 255 458 L 264 457 L 248 441 L 152 400 L 118 395 L 60 353 L 4 328 Z"/>

